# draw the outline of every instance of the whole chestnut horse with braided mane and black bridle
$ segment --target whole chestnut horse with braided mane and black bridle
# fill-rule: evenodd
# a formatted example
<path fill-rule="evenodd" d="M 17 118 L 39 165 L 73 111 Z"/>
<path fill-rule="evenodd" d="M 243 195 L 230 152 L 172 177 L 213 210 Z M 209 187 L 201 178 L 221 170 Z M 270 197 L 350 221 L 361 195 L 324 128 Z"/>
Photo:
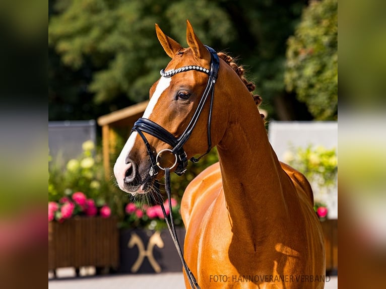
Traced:
<path fill-rule="evenodd" d="M 156 180 L 183 173 L 187 159 L 217 146 L 219 162 L 192 180 L 181 200 L 184 258 L 198 284 L 323 288 L 324 238 L 311 187 L 279 162 L 253 83 L 232 57 L 204 45 L 189 21 L 187 48 L 155 26 L 171 60 L 116 160 L 118 186 L 151 193 Z"/>

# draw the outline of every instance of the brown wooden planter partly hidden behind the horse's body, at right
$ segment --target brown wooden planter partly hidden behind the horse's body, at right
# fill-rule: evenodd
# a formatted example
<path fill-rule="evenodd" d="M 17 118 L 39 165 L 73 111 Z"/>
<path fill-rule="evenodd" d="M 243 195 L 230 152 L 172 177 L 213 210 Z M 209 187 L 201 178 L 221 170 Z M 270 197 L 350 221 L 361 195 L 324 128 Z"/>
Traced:
<path fill-rule="evenodd" d="M 338 220 L 320 222 L 325 237 L 326 272 L 338 273 Z"/>

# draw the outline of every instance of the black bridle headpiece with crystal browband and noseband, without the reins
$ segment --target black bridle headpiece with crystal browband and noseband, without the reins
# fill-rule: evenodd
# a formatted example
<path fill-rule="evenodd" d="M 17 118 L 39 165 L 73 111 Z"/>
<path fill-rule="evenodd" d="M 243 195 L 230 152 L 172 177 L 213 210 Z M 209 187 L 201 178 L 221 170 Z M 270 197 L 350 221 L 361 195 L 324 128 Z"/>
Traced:
<path fill-rule="evenodd" d="M 214 86 L 216 83 L 217 73 L 218 73 L 218 68 L 219 68 L 220 62 L 219 62 L 219 57 L 217 56 L 217 52 L 209 46 L 206 46 L 206 47 L 209 50 L 209 52 L 211 53 L 211 64 L 210 64 L 211 67 L 210 67 L 210 69 L 207 69 L 207 68 L 204 68 L 201 66 L 197 66 L 197 65 L 187 65 L 187 66 L 183 66 L 180 68 L 171 69 L 168 71 L 164 71 L 164 69 L 162 69 L 160 71 L 161 76 L 165 77 L 165 78 L 170 78 L 178 73 L 182 73 L 182 72 L 189 71 L 189 70 L 196 70 L 196 71 L 200 71 L 202 73 L 209 75 L 208 84 L 204 90 L 204 93 L 203 93 L 203 96 L 199 102 L 199 105 L 198 105 L 194 115 L 192 116 L 189 124 L 187 125 L 187 127 L 183 131 L 183 133 L 179 137 L 175 137 L 173 134 L 171 134 L 169 131 L 167 131 L 165 128 L 163 128 L 159 124 L 155 123 L 154 121 L 152 121 L 150 119 L 143 118 L 143 117 L 138 119 L 134 123 L 132 131 L 137 131 L 138 134 L 142 137 L 143 141 L 145 142 L 146 150 L 148 152 L 150 162 L 152 165 L 151 169 L 150 169 L 150 173 L 149 173 L 151 176 L 158 174 L 160 169 L 164 170 L 165 168 L 163 168 L 158 162 L 158 157 L 160 156 L 162 151 L 156 155 L 156 153 L 151 149 L 149 141 L 145 137 L 144 132 L 151 134 L 154 137 L 157 137 L 158 139 L 162 140 L 163 142 L 168 143 L 172 147 L 171 150 L 166 150 L 166 151 L 170 151 L 170 153 L 172 153 L 176 158 L 175 164 L 177 165 L 177 168 L 175 169 L 174 172 L 178 175 L 182 175 L 186 171 L 186 166 L 187 166 L 187 156 L 186 156 L 186 153 L 183 149 L 183 145 L 189 139 L 193 129 L 195 128 L 196 123 L 201 115 L 201 112 L 204 109 L 205 103 L 206 103 L 209 95 L 211 95 L 211 100 L 210 100 L 210 109 L 209 109 L 209 117 L 208 117 L 208 151 L 203 156 L 208 154 L 209 151 L 211 150 L 211 128 L 210 128 L 210 125 L 211 125 L 211 116 L 212 116 L 213 95 L 214 95 Z M 191 158 L 190 161 L 196 163 L 203 156 L 201 156 L 198 159 Z M 170 169 L 172 169 L 172 167 Z"/>

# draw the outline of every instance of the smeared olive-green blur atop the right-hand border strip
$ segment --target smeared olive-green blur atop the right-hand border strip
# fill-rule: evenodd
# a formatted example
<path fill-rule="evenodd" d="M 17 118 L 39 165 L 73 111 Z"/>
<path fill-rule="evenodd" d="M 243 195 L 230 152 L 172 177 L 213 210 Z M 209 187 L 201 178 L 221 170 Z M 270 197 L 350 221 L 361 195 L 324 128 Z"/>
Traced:
<path fill-rule="evenodd" d="M 342 3 L 341 3 L 342 4 Z M 340 5 L 341 5 L 340 4 Z M 342 8 L 343 7 L 343 8 Z M 382 109 L 386 82 L 386 2 L 354 1 L 340 6 L 341 104 Z"/>

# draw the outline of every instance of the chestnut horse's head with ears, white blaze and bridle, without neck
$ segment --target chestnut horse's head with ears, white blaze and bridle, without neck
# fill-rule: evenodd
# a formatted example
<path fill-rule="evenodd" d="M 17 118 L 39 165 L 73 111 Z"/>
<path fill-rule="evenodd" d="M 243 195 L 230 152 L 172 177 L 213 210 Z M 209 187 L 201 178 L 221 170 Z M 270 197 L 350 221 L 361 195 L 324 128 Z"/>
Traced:
<path fill-rule="evenodd" d="M 216 52 L 200 41 L 188 21 L 188 48 L 166 36 L 157 24 L 156 33 L 172 59 L 150 88 L 144 115 L 135 124 L 114 165 L 120 189 L 132 194 L 149 192 L 154 180 L 163 176 L 165 167 L 182 172 L 187 159 L 205 154 L 226 128 L 224 116 L 220 115 L 225 111 L 216 109 L 222 106 L 221 99 L 216 97 L 221 94 L 220 88 L 216 86 L 216 92 L 213 91 L 219 69 Z M 216 113 L 210 115 L 212 107 Z"/>

